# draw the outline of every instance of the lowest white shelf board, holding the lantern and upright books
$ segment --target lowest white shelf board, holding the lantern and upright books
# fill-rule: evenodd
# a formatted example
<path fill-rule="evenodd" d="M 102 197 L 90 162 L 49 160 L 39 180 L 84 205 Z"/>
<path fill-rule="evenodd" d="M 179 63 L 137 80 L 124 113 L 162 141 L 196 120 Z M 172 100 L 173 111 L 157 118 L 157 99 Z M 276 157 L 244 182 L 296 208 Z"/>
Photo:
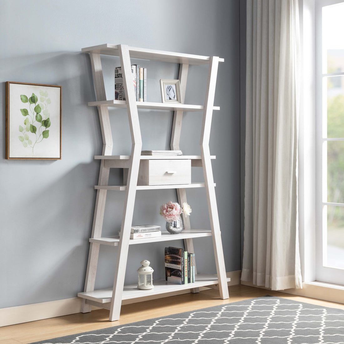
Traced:
<path fill-rule="evenodd" d="M 230 281 L 230 278 L 227 277 L 227 282 L 229 281 Z M 153 280 L 154 288 L 150 290 L 140 290 L 137 288 L 137 284 L 124 286 L 122 300 L 135 299 L 135 298 L 151 296 L 151 295 L 158 295 L 158 294 L 168 293 L 171 291 L 206 287 L 206 286 L 211 286 L 217 283 L 218 283 L 218 279 L 216 275 L 207 275 L 203 273 L 196 275 L 196 281 L 194 283 L 188 283 L 188 284 L 182 284 L 182 285 L 166 282 L 165 280 L 161 280 L 161 281 Z M 90 301 L 99 302 L 99 303 L 108 303 L 108 302 L 111 302 L 112 288 L 78 293 L 78 297 L 86 299 L 86 300 L 90 300 Z"/>

